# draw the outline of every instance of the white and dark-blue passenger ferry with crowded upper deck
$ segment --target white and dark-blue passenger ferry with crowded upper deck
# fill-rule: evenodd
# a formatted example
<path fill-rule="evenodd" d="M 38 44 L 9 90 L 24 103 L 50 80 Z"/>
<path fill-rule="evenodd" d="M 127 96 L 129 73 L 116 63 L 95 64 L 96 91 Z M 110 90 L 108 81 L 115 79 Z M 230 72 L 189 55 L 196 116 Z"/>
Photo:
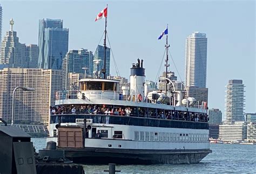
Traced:
<path fill-rule="evenodd" d="M 143 60 L 125 90 L 115 79 L 84 78 L 79 90 L 57 92 L 47 142 L 78 163 L 199 163 L 211 153 L 207 110 L 176 97 L 183 91 L 147 91 Z"/>

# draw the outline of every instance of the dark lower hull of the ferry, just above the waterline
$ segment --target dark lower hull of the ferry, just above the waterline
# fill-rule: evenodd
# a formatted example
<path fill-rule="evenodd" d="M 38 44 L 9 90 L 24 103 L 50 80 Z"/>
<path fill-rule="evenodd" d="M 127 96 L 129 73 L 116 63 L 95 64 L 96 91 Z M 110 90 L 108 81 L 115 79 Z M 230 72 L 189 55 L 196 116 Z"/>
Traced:
<path fill-rule="evenodd" d="M 134 150 L 108 148 L 58 148 L 65 156 L 83 164 L 184 164 L 199 163 L 210 149 L 201 150 Z"/>

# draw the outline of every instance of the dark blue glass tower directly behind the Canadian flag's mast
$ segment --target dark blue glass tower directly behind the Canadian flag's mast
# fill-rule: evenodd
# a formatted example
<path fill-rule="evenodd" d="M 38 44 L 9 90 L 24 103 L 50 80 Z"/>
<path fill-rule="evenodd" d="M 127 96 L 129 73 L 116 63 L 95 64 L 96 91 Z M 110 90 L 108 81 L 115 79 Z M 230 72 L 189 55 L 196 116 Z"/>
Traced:
<path fill-rule="evenodd" d="M 101 71 L 104 68 L 104 47 L 98 45 L 95 51 L 93 60 L 100 60 L 98 64 L 98 70 Z M 97 64 L 96 61 L 93 63 L 93 77 L 97 77 Z M 106 77 L 110 76 L 110 48 L 106 47 Z M 104 77 L 103 73 L 100 74 L 100 77 Z"/>

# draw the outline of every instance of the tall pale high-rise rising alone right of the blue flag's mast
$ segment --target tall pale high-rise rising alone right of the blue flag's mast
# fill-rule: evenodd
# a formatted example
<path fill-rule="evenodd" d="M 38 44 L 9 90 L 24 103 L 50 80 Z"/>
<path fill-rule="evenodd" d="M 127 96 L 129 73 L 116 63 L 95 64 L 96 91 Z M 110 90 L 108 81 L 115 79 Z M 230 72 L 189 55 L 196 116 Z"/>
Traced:
<path fill-rule="evenodd" d="M 206 88 L 207 38 L 205 33 L 194 32 L 186 39 L 186 86 Z"/>

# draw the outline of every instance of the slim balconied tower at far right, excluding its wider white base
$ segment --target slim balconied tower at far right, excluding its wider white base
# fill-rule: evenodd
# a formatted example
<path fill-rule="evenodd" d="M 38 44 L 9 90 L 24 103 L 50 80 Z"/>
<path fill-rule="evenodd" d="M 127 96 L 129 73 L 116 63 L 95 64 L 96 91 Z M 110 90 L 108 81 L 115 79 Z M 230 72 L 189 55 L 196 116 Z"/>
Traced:
<path fill-rule="evenodd" d="M 226 124 L 232 124 L 235 121 L 245 121 L 244 118 L 244 84 L 242 80 L 232 79 L 226 85 Z"/>

